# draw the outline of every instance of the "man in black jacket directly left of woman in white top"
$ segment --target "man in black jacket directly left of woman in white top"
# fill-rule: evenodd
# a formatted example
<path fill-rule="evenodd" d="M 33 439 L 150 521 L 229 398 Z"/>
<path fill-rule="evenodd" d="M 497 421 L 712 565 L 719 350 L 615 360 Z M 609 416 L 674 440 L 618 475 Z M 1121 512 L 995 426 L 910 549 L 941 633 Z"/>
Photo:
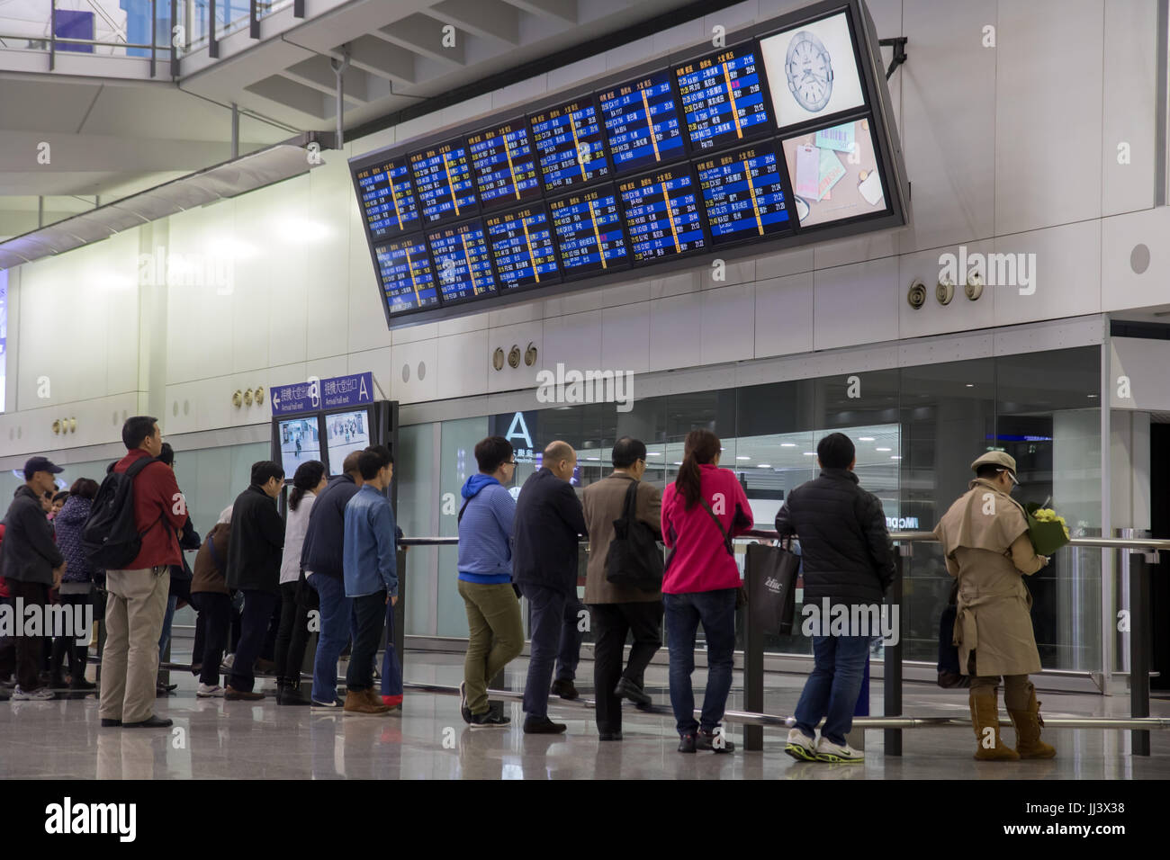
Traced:
<path fill-rule="evenodd" d="M 252 483 L 232 505 L 232 545 L 227 555 L 227 584 L 243 592 L 240 644 L 223 699 L 256 701 L 253 665 L 260 655 L 273 612 L 280 600 L 281 551 L 284 521 L 276 497 L 284 486 L 284 470 L 271 460 L 252 465 Z"/>

